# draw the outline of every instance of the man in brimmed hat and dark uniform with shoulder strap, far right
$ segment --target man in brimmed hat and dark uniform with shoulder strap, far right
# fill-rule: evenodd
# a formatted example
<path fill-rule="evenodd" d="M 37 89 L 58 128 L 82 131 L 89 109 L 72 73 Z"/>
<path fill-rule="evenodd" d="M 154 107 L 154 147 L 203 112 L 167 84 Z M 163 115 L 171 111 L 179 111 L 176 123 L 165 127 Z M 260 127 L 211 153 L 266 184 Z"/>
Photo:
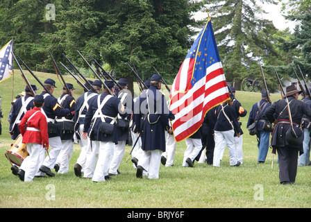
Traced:
<path fill-rule="evenodd" d="M 303 114 L 311 117 L 309 105 L 299 101 L 299 91 L 294 85 L 286 87 L 284 99 L 274 102 L 265 115 L 270 123 L 275 123 L 271 146 L 278 151 L 280 184 L 295 182 L 299 151 L 303 153 L 303 132 L 299 128 Z M 295 137 L 292 135 L 296 134 Z"/>

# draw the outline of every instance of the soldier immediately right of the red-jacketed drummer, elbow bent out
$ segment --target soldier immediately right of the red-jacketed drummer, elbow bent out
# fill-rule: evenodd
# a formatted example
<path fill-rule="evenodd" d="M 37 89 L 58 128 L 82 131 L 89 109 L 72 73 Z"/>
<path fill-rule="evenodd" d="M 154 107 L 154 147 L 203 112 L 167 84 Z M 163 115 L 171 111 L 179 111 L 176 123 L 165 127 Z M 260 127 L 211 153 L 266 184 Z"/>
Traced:
<path fill-rule="evenodd" d="M 46 87 L 46 89 L 53 94 L 54 88 L 56 87 L 55 81 L 48 78 L 44 81 L 44 87 Z M 71 113 L 69 109 L 62 108 L 57 99 L 45 90 L 41 95 L 44 97 L 42 112 L 47 117 L 49 146 L 51 146 L 51 152 L 49 153 L 49 156 L 45 157 L 45 160 L 40 165 L 41 173 L 37 173 L 36 176 L 44 176 L 44 173 L 47 173 L 47 176 L 53 177 L 55 174 L 52 173 L 51 169 L 54 168 L 58 154 L 62 149 L 62 142 L 60 140 L 60 132 L 56 124 L 56 117 L 67 117 Z M 45 152 L 41 155 L 45 156 Z"/>

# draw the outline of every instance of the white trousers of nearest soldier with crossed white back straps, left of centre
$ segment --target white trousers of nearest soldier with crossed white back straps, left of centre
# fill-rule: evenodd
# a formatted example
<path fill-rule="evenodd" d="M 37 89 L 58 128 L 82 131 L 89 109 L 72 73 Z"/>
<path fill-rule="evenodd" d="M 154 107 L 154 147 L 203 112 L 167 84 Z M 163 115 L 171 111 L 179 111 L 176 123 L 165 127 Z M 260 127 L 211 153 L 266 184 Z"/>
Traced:
<path fill-rule="evenodd" d="M 94 142 L 99 147 L 99 160 L 97 160 L 92 181 L 103 182 L 105 176 L 108 176 L 108 169 L 112 160 L 113 151 L 115 148 L 114 142 Z"/>

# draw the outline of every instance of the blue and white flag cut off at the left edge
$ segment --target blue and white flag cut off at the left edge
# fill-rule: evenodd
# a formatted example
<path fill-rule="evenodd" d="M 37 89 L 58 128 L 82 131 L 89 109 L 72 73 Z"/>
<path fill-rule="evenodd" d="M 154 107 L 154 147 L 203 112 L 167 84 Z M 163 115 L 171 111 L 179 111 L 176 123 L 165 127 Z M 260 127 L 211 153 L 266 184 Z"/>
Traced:
<path fill-rule="evenodd" d="M 13 43 L 11 40 L 0 50 L 0 83 L 13 74 L 12 49 Z"/>

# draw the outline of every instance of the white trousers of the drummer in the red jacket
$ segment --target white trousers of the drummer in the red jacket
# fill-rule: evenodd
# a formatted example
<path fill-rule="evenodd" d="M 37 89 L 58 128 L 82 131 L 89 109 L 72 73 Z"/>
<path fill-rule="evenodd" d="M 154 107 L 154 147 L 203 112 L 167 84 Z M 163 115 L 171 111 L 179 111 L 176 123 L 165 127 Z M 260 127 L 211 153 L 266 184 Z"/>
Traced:
<path fill-rule="evenodd" d="M 41 162 L 44 160 L 44 156 L 40 153 L 44 153 L 42 144 L 27 144 L 28 157 L 22 162 L 20 169 L 25 171 L 24 182 L 32 182 L 35 177 L 35 173 L 41 167 Z M 42 159 L 42 160 L 40 160 Z"/>

